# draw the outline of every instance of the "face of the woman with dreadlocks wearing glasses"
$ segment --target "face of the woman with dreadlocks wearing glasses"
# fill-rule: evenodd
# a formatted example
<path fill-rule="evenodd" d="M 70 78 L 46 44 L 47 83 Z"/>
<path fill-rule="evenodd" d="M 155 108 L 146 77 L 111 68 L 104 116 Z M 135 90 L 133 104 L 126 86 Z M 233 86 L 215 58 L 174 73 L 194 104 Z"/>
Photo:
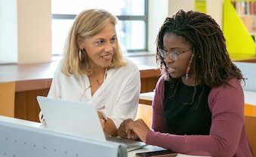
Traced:
<path fill-rule="evenodd" d="M 168 51 L 169 53 L 173 51 L 182 52 L 184 50 L 187 50 L 186 52 L 180 53 L 178 55 L 177 61 L 171 59 L 170 56 L 165 57 L 165 62 L 168 68 L 168 72 L 169 74 L 171 74 L 171 77 L 184 77 L 187 72 L 190 58 L 193 54 L 193 49 L 190 49 L 192 48 L 190 43 L 185 41 L 184 38 L 181 38 L 180 36 L 167 33 L 163 38 L 163 47 L 165 51 Z"/>

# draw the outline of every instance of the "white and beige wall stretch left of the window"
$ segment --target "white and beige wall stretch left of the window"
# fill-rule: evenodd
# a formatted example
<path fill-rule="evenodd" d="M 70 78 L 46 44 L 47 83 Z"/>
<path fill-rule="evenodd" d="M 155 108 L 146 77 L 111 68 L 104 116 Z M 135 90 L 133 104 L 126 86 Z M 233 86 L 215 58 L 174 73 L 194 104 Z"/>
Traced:
<path fill-rule="evenodd" d="M 0 0 L 0 62 L 51 62 L 51 0 Z"/>

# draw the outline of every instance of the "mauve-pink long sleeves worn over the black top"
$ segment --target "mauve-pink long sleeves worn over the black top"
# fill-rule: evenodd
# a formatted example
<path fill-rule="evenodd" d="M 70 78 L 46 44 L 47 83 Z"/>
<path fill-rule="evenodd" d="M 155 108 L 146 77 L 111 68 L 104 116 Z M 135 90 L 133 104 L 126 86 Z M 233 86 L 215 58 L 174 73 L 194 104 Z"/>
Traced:
<path fill-rule="evenodd" d="M 153 121 L 146 143 L 162 146 L 189 155 L 214 157 L 253 157 L 251 145 L 245 133 L 244 95 L 236 78 L 230 86 L 211 88 L 208 107 L 211 112 L 211 128 L 208 135 L 170 134 L 164 120 L 164 77 L 156 84 L 153 99 Z"/>

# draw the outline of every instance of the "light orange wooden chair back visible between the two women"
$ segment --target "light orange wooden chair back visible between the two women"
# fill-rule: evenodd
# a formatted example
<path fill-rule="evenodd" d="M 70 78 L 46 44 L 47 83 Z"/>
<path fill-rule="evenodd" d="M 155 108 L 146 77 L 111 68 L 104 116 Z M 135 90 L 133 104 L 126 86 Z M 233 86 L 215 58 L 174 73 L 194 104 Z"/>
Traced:
<path fill-rule="evenodd" d="M 152 106 L 149 104 L 139 104 L 137 107 L 136 119 L 143 119 L 143 121 L 150 127 L 152 119 Z"/>

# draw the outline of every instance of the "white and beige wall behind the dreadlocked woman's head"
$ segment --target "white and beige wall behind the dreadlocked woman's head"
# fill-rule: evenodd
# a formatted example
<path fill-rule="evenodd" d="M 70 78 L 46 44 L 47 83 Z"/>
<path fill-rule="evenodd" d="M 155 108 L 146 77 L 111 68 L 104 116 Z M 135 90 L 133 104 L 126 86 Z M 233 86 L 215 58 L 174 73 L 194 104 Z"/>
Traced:
<path fill-rule="evenodd" d="M 206 0 L 207 14 L 216 20 L 222 28 L 223 0 Z M 195 0 L 149 0 L 149 35 L 148 46 L 151 53 L 156 51 L 156 35 L 165 20 L 172 17 L 180 9 L 184 11 L 195 10 Z"/>

